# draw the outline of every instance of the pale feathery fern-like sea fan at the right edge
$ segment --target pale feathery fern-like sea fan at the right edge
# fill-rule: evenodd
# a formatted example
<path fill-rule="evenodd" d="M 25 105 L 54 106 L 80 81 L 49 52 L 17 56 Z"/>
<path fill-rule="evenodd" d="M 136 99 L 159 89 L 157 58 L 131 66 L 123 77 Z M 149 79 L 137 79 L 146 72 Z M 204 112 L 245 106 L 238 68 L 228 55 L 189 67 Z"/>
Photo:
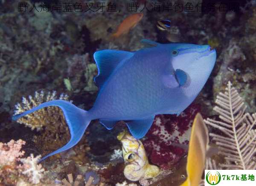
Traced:
<path fill-rule="evenodd" d="M 219 129 L 223 134 L 210 133 L 218 145 L 219 154 L 226 163 L 222 169 L 256 169 L 253 157 L 256 152 L 256 113 L 245 113 L 246 106 L 237 90 L 227 83 L 226 92 L 219 93 L 213 108 L 221 121 L 207 118 L 205 123 Z"/>

